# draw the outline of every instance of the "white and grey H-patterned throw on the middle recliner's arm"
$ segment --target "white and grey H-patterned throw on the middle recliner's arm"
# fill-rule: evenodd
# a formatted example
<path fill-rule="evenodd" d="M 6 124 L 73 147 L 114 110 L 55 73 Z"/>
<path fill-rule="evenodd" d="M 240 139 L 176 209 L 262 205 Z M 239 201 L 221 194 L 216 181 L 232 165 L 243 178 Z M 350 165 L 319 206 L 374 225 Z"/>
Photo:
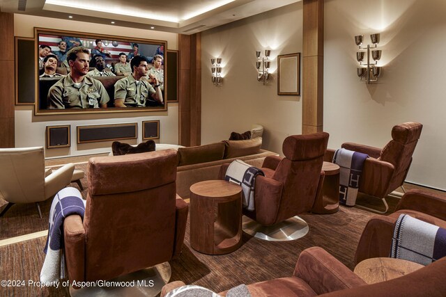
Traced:
<path fill-rule="evenodd" d="M 254 186 L 257 175 L 265 176 L 259 168 L 237 159 L 229 164 L 226 175 L 224 176 L 224 180 L 242 186 L 243 207 L 249 211 L 254 210 Z"/>

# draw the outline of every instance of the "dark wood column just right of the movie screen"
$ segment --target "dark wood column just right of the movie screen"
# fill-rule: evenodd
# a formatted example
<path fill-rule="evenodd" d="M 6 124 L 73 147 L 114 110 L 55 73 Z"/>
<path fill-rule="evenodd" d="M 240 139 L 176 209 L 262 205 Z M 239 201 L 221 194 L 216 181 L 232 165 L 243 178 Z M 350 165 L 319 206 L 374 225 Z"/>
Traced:
<path fill-rule="evenodd" d="M 201 144 L 201 33 L 178 35 L 178 143 Z"/>

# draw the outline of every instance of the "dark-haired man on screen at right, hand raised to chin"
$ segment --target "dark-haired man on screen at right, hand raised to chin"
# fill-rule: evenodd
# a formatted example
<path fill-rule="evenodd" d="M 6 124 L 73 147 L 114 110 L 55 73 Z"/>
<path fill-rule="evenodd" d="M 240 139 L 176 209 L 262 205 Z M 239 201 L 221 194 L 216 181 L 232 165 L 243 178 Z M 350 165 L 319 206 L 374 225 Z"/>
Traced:
<path fill-rule="evenodd" d="M 152 87 L 145 78 L 148 72 L 147 58 L 135 56 L 130 66 L 133 73 L 114 84 L 114 106 L 162 106 L 163 99 L 159 82 L 155 78 L 155 86 Z"/>

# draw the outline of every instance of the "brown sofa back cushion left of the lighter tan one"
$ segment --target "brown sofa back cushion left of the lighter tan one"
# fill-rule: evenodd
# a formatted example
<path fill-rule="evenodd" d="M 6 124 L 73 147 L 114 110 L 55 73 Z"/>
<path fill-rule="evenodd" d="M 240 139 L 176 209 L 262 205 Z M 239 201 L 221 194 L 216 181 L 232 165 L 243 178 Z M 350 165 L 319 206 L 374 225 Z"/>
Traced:
<path fill-rule="evenodd" d="M 223 159 L 224 143 L 210 143 L 196 147 L 178 148 L 178 166 L 205 163 Z"/>

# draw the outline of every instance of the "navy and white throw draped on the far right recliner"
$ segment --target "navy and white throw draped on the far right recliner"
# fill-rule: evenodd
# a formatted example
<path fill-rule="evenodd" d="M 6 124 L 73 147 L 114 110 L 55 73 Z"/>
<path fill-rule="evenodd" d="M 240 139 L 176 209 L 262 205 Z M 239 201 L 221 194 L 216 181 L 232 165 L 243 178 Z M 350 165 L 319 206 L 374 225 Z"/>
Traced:
<path fill-rule="evenodd" d="M 369 155 L 341 148 L 334 152 L 333 163 L 339 165 L 339 202 L 348 206 L 356 203 L 357 189 L 364 161 Z"/>

